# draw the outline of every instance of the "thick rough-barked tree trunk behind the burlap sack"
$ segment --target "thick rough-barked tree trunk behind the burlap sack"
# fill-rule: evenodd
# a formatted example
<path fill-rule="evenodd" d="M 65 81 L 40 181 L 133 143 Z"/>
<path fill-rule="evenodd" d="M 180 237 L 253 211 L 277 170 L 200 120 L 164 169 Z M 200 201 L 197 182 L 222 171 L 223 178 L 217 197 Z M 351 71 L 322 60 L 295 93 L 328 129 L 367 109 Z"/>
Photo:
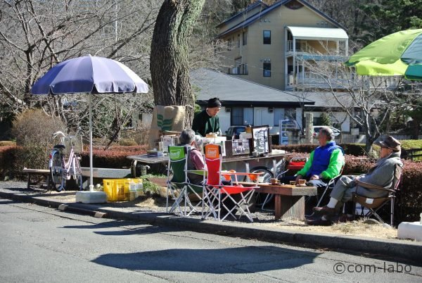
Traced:
<path fill-rule="evenodd" d="M 150 70 L 155 105 L 186 107 L 191 127 L 195 98 L 189 82 L 188 43 L 205 0 L 165 0 L 155 23 Z"/>

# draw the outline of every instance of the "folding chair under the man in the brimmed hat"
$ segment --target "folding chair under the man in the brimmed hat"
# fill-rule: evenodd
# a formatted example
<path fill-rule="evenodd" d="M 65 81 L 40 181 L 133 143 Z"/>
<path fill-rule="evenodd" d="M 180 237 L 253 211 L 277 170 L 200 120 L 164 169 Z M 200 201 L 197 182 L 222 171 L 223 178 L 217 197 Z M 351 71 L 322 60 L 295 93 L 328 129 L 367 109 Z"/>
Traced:
<path fill-rule="evenodd" d="M 357 185 L 361 187 L 365 187 L 368 189 L 377 189 L 382 191 L 388 191 L 388 196 L 381 197 L 381 198 L 369 198 L 366 196 L 361 196 L 356 192 L 353 193 L 352 201 L 353 201 L 353 217 L 356 216 L 356 205 L 359 203 L 362 206 L 362 210 L 360 215 L 364 218 L 371 218 L 373 216 L 381 223 L 384 223 L 383 219 L 378 215 L 378 210 L 383 208 L 387 203 L 390 202 L 390 225 L 393 225 L 394 221 L 394 203 L 395 203 L 395 195 L 399 189 L 400 180 L 402 179 L 402 171 L 403 168 L 399 165 L 395 166 L 394 177 L 392 180 L 391 187 L 389 189 L 385 189 L 384 187 L 379 187 L 373 184 L 364 183 L 362 181 L 356 180 Z M 365 212 L 365 208 L 367 212 Z"/>

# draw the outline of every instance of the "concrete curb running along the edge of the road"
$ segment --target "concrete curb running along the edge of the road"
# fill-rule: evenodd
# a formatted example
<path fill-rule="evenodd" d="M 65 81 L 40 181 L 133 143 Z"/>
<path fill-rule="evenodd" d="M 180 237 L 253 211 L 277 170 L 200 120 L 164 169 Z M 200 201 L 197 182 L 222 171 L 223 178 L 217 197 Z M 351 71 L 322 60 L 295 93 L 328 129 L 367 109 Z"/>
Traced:
<path fill-rule="evenodd" d="M 35 203 L 40 206 L 58 208 L 64 202 L 51 201 L 46 197 L 27 196 L 25 194 L 12 194 L 0 191 L 0 196 L 6 199 Z M 198 220 L 195 218 L 179 218 L 165 213 L 128 212 L 121 208 L 103 208 L 97 204 L 64 203 L 65 210 L 76 213 L 95 215 L 106 213 L 108 218 L 136 220 L 149 225 L 162 225 L 179 227 L 193 232 L 207 232 L 222 234 L 244 239 L 258 239 L 274 243 L 300 244 L 319 248 L 341 249 L 354 252 L 375 253 L 385 256 L 393 256 L 408 260 L 421 260 L 422 243 L 403 242 L 395 239 L 369 239 L 352 236 L 340 236 L 335 234 L 315 234 L 311 232 L 281 231 L 274 228 L 250 227 L 247 223 L 233 225 L 229 222 L 217 222 L 214 220 Z M 104 215 L 103 215 L 104 216 Z"/>

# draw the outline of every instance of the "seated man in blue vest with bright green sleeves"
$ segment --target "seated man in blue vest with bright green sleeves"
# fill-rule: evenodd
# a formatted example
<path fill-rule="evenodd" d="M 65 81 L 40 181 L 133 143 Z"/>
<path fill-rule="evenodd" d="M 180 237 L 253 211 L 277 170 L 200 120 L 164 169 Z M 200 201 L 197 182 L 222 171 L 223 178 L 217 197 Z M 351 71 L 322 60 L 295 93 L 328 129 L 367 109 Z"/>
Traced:
<path fill-rule="evenodd" d="M 296 182 L 307 179 L 315 187 L 325 187 L 326 182 L 340 174 L 345 164 L 343 149 L 335 144 L 334 133 L 322 127 L 318 136 L 319 146 L 311 152 L 307 163 L 295 175 Z"/>

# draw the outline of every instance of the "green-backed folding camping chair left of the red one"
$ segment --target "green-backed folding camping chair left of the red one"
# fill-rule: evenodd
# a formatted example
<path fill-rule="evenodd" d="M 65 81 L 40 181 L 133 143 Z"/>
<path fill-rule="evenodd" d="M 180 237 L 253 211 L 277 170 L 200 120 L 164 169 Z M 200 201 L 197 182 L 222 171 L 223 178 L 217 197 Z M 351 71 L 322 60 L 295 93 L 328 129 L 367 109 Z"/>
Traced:
<path fill-rule="evenodd" d="M 169 146 L 169 163 L 167 168 L 167 199 L 166 212 L 172 213 L 179 210 L 183 216 L 191 215 L 194 211 L 199 212 L 202 207 L 203 185 L 192 184 L 189 182 L 188 173 L 203 176 L 205 182 L 205 170 L 188 170 L 188 158 L 190 146 Z M 189 199 L 189 194 L 193 194 L 200 201 L 194 206 Z M 169 210 L 169 197 L 174 199 Z M 187 210 L 189 208 L 189 211 Z"/>

